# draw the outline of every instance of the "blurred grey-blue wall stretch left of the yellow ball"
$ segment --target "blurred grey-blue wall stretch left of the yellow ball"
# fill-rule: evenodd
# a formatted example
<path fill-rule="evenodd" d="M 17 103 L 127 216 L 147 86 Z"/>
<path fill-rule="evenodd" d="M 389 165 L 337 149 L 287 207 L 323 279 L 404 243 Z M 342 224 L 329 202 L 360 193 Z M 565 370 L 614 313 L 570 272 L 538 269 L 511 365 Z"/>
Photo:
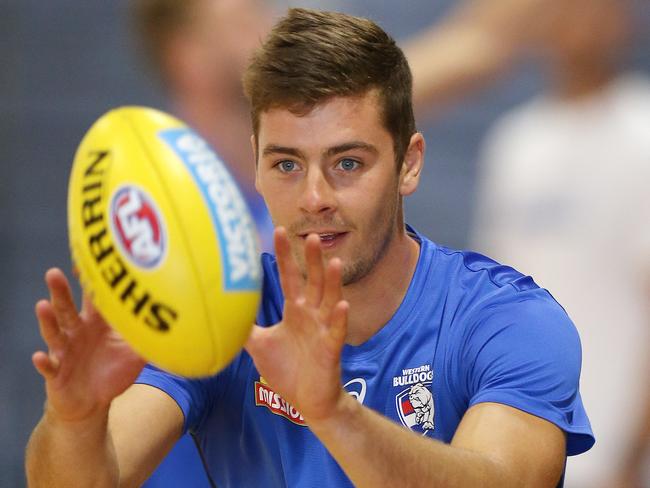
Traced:
<path fill-rule="evenodd" d="M 126 2 L 0 2 L 0 486 L 25 484 L 23 452 L 43 406 L 31 366 L 42 275 L 69 270 L 68 171 L 84 131 L 115 105 L 160 105 L 136 67 Z"/>

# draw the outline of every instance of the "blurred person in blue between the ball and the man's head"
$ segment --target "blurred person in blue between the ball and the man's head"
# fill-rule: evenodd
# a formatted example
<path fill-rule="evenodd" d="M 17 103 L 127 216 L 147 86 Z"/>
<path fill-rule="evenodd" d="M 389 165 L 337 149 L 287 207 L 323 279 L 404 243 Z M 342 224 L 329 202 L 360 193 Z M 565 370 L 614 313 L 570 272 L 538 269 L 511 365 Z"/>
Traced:
<path fill-rule="evenodd" d="M 250 109 L 241 76 L 270 29 L 272 12 L 258 0 L 137 0 L 133 24 L 143 54 L 169 97 L 171 110 L 205 138 L 239 183 L 263 251 L 273 224 L 255 190 Z M 148 488 L 209 486 L 189 434 L 175 445 Z"/>

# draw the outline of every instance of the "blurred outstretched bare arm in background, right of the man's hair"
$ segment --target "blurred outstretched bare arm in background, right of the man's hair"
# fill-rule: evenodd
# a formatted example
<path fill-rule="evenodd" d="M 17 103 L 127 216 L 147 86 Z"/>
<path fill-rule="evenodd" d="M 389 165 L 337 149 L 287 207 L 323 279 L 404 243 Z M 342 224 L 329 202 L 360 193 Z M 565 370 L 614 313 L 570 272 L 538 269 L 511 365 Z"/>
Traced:
<path fill-rule="evenodd" d="M 535 44 L 561 9 L 548 0 L 467 0 L 405 44 L 416 109 L 439 108 L 485 87 Z"/>

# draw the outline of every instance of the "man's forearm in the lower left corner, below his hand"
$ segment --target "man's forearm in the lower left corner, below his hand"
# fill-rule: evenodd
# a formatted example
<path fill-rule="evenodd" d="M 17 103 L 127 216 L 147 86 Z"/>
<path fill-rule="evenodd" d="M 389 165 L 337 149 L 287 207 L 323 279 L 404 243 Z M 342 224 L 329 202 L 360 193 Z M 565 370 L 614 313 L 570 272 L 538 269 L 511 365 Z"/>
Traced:
<path fill-rule="evenodd" d="M 107 422 L 107 414 L 64 422 L 46 412 L 27 446 L 29 486 L 118 486 L 119 467 Z"/>

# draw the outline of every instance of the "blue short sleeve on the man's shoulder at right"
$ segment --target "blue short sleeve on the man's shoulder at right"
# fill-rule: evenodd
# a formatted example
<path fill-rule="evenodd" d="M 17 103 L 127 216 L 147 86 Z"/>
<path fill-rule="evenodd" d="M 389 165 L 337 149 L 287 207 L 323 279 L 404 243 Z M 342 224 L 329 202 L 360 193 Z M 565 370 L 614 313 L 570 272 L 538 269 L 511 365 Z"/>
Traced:
<path fill-rule="evenodd" d="M 546 294 L 548 299 L 540 299 Z M 580 338 L 564 310 L 537 289 L 483 308 L 464 329 L 460 381 L 469 406 L 509 405 L 567 434 L 567 454 L 594 444 L 578 390 Z"/>

